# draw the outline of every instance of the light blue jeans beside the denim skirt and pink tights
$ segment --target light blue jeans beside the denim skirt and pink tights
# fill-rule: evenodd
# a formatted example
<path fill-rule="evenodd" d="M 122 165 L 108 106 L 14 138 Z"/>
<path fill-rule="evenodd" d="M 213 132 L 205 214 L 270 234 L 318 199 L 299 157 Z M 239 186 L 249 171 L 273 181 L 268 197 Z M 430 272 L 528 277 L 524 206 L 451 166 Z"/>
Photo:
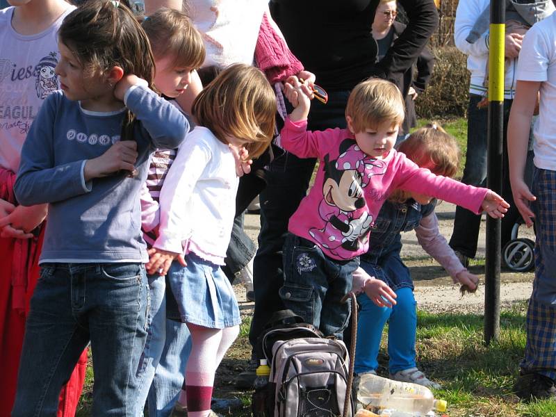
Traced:
<path fill-rule="evenodd" d="M 149 416 L 167 417 L 172 414 L 179 398 L 191 341 L 187 325 L 166 318 L 166 280 L 149 275 L 151 308 L 145 350 L 138 370 L 138 410 L 143 415 L 148 400 Z"/>

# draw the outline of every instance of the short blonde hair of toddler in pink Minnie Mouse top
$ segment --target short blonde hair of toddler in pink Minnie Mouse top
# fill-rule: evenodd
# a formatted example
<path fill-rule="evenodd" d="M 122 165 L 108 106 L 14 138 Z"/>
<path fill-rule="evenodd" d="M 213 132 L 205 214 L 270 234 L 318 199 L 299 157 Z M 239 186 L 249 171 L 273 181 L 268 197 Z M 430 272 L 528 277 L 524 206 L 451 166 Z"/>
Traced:
<path fill-rule="evenodd" d="M 369 79 L 355 86 L 345 106 L 353 133 L 376 128 L 384 122 L 400 126 L 404 121 L 404 98 L 398 87 L 383 79 Z"/>

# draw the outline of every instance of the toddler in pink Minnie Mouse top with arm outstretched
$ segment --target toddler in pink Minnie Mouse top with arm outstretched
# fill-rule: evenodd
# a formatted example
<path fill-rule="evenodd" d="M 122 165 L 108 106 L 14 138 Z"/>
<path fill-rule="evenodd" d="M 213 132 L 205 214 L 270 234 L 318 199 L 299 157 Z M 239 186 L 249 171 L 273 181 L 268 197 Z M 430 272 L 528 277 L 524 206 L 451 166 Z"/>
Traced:
<path fill-rule="evenodd" d="M 404 118 L 404 100 L 393 83 L 363 81 L 347 101 L 347 129 L 315 132 L 306 131 L 309 86 L 291 77 L 284 92 L 295 108 L 281 143 L 300 158 L 318 157 L 320 167 L 289 222 L 280 297 L 325 336 L 341 338 L 350 309 L 340 301 L 350 291 L 359 255 L 367 252 L 375 218 L 393 190 L 436 197 L 493 218 L 507 211 L 509 204 L 491 190 L 436 176 L 393 149 Z M 371 286 L 377 305 L 395 304 L 395 294 L 383 281 L 373 279 Z"/>

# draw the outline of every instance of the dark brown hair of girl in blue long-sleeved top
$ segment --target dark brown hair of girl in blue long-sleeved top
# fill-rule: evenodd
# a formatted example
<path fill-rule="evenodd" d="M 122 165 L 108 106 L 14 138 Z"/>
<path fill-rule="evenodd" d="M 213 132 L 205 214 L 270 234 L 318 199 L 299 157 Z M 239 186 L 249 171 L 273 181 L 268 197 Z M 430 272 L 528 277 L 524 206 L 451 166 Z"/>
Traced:
<path fill-rule="evenodd" d="M 145 31 L 133 12 L 120 1 L 89 0 L 65 17 L 58 31 L 84 76 L 99 76 L 113 67 L 145 79 L 152 88 L 154 56 Z M 128 111 L 122 122 L 122 140 L 133 140 L 135 117 Z"/>

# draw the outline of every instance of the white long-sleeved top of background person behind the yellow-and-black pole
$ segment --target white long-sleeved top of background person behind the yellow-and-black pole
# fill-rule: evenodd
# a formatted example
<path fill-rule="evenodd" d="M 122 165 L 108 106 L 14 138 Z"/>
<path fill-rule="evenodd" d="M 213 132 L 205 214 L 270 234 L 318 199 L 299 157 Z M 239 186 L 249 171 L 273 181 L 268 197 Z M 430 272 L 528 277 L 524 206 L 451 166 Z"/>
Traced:
<path fill-rule="evenodd" d="M 485 95 L 487 87 L 484 85 L 489 61 L 489 31 L 481 35 L 474 43 L 466 41 L 477 17 L 489 6 L 490 0 L 461 0 L 457 5 L 454 24 L 454 40 L 457 49 L 467 55 L 467 69 L 471 72 L 469 92 Z M 513 99 L 516 88 L 515 70 L 517 60 L 507 60 L 504 75 L 504 98 Z"/>

